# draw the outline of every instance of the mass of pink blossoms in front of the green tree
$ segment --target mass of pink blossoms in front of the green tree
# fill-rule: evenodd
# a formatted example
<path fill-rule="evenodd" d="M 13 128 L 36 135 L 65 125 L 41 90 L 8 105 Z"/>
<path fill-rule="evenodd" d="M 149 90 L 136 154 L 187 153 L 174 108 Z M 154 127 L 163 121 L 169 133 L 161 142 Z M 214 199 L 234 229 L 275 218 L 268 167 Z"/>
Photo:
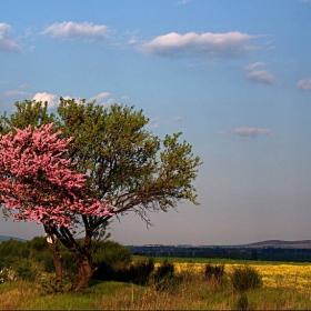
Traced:
<path fill-rule="evenodd" d="M 116 208 L 88 195 L 87 174 L 73 170 L 53 124 L 0 137 L 0 199 L 17 221 L 69 227 L 74 214 L 113 215 Z"/>

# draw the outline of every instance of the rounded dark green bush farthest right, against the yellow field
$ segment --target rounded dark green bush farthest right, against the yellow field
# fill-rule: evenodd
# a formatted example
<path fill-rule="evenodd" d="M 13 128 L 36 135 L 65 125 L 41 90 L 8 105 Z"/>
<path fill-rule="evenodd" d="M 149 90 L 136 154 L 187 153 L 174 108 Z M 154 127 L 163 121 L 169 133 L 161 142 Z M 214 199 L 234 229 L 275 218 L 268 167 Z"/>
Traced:
<path fill-rule="evenodd" d="M 237 292 L 245 292 L 262 287 L 261 275 L 254 268 L 248 265 L 235 268 L 231 275 L 231 282 Z"/>

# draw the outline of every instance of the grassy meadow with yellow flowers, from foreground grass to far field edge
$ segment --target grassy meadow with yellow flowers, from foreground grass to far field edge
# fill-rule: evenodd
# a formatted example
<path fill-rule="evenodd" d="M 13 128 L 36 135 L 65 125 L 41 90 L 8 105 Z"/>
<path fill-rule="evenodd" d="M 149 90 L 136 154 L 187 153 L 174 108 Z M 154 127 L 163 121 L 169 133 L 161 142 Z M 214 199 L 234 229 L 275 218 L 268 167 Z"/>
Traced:
<path fill-rule="evenodd" d="M 93 281 L 83 292 L 47 294 L 31 282 L 0 284 L 2 310 L 310 310 L 311 264 L 263 261 L 169 259 L 182 281 L 158 291 L 153 284 Z M 156 259 L 156 267 L 163 259 Z M 222 282 L 207 281 L 205 264 L 224 264 Z M 234 292 L 230 275 L 249 265 L 262 277 L 262 288 Z M 241 303 L 242 302 L 242 303 Z"/>

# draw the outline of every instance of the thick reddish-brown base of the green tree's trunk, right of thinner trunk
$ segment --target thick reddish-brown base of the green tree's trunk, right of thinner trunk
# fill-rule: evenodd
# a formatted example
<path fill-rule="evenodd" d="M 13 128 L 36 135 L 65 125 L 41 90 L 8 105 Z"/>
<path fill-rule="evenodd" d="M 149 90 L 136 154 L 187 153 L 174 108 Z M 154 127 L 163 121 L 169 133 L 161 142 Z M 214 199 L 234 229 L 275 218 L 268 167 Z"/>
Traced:
<path fill-rule="evenodd" d="M 77 253 L 74 253 L 73 255 L 78 268 L 78 279 L 73 284 L 73 290 L 79 291 L 88 287 L 88 283 L 92 278 L 94 271 L 90 257 Z"/>

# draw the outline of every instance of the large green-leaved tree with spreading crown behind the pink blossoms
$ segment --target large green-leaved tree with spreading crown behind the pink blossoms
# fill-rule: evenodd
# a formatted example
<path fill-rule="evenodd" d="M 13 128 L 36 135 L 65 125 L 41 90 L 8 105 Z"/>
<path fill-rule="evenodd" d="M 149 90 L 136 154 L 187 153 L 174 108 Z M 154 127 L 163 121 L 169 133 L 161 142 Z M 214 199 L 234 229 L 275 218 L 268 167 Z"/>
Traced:
<path fill-rule="evenodd" d="M 49 113 L 42 102 L 24 101 L 16 107 L 17 112 L 1 117 L 2 132 L 53 121 L 63 139 L 73 137 L 67 157 L 77 162 L 80 173 L 88 172 L 89 194 L 111 202 L 118 209 L 117 217 L 133 211 L 150 223 L 151 210 L 167 211 L 183 200 L 198 204 L 192 182 L 201 164 L 199 157 L 193 156 L 188 142 L 179 141 L 181 133 L 161 140 L 147 131 L 149 119 L 142 110 L 120 104 L 103 108 L 94 102 L 64 99 L 56 114 Z M 112 215 L 73 217 L 73 225 L 52 225 L 52 234 L 80 253 L 83 265 L 93 271 L 91 241 L 101 234 Z M 84 230 L 82 245 L 74 237 L 77 227 Z M 84 275 L 80 287 L 86 285 L 91 274 Z"/>

